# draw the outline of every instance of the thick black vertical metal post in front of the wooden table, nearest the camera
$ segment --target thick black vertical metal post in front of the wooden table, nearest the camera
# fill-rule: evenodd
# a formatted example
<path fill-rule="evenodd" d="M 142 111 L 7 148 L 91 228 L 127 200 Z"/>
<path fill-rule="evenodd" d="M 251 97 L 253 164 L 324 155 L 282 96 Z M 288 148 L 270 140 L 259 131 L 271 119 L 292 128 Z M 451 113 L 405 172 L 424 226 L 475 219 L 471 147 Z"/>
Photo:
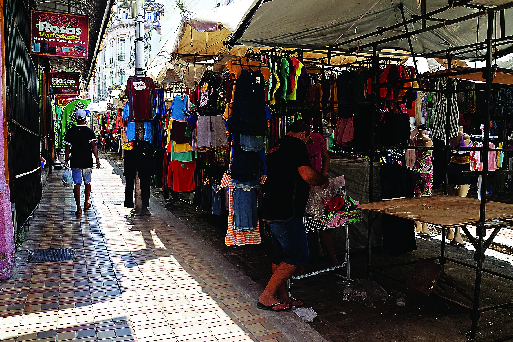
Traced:
<path fill-rule="evenodd" d="M 486 120 L 484 122 L 484 142 L 483 142 L 483 154 L 481 155 L 483 160 L 483 175 L 481 176 L 481 207 L 479 211 L 479 224 L 477 226 L 478 245 L 476 248 L 476 285 L 474 287 L 474 300 L 472 303 L 472 311 L 470 318 L 472 319 L 472 325 L 470 328 L 470 338 L 475 338 L 478 327 L 478 320 L 480 316 L 479 310 L 479 296 L 481 294 L 481 275 L 483 271 L 483 241 L 486 230 L 484 227 L 485 213 L 486 213 L 486 172 L 488 170 L 488 144 L 490 134 L 490 107 L 491 107 L 491 86 L 493 82 L 493 70 L 492 64 L 492 37 L 494 32 L 494 12 L 488 12 L 488 26 L 486 30 Z"/>

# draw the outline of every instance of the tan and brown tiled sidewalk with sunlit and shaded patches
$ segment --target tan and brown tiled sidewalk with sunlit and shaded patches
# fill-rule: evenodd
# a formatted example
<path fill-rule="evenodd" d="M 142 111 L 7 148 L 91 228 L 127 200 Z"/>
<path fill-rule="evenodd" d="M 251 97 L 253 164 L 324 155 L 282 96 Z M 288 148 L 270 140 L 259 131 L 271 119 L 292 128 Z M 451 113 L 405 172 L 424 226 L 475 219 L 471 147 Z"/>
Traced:
<path fill-rule="evenodd" d="M 285 337 L 165 217 L 131 218 L 119 169 L 93 171 L 93 210 L 74 216 L 62 172 L 48 179 L 13 277 L 0 284 L 0 340 L 284 342 Z M 27 263 L 27 250 L 74 248 Z"/>

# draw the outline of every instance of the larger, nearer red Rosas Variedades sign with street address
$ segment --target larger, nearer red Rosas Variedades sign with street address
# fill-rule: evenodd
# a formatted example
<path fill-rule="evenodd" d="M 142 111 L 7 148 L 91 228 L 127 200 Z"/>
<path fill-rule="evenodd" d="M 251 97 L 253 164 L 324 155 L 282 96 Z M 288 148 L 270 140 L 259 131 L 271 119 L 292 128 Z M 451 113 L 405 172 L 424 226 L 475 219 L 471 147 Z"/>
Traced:
<path fill-rule="evenodd" d="M 89 57 L 89 17 L 83 15 L 32 11 L 32 54 L 61 58 Z"/>

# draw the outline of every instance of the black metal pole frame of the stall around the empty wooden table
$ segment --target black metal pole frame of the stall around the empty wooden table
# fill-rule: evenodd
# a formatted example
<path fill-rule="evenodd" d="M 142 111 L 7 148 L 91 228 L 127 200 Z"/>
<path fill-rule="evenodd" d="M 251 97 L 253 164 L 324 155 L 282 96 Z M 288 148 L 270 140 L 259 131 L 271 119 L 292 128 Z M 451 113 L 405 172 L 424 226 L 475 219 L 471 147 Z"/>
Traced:
<path fill-rule="evenodd" d="M 461 3 L 467 3 L 467 1 L 462 1 L 460 2 Z M 422 6 L 425 6 L 425 3 L 423 2 Z M 456 6 L 456 3 L 455 3 L 455 6 Z M 486 113 L 485 113 L 485 116 L 484 116 L 484 122 L 485 122 L 485 131 L 484 131 L 484 142 L 483 142 L 483 147 L 482 148 L 477 148 L 477 147 L 474 147 L 474 148 L 455 148 L 455 147 L 450 147 L 448 145 L 448 140 L 449 140 L 449 134 L 448 134 L 448 126 L 449 126 L 449 116 L 450 116 L 450 110 L 449 110 L 449 105 L 446 106 L 446 126 L 445 126 L 445 131 L 446 131 L 446 143 L 445 143 L 445 146 L 443 147 L 424 147 L 424 146 L 380 146 L 380 145 L 374 145 L 374 141 L 373 141 L 373 134 L 372 134 L 372 148 L 370 150 L 370 153 L 369 153 L 369 162 L 370 162 L 370 173 L 369 173 L 369 202 L 371 202 L 371 198 L 372 198 L 372 187 L 373 187 L 373 184 L 372 184 L 372 167 L 373 167 L 373 161 L 374 161 L 374 157 L 376 156 L 376 148 L 396 148 L 396 149 L 443 149 L 443 150 L 446 150 L 447 152 L 449 152 L 450 150 L 453 150 L 453 149 L 459 149 L 459 150 L 481 150 L 482 151 L 482 162 L 483 162 L 483 171 L 482 172 L 472 172 L 473 175 L 476 175 L 476 174 L 480 174 L 482 177 L 481 177 L 481 184 L 486 184 L 486 178 L 487 178 L 487 175 L 490 175 L 490 174 L 511 174 L 513 172 L 508 172 L 508 171 L 488 171 L 488 151 L 490 150 L 498 150 L 498 149 L 491 149 L 489 148 L 489 125 L 487 125 L 486 123 L 488 123 L 490 121 L 490 109 L 491 109 L 491 90 L 492 89 L 497 89 L 497 88 L 500 88 L 500 87 L 494 87 L 493 86 L 493 78 L 494 78 L 494 66 L 492 65 L 492 61 L 493 61 L 493 57 L 494 57 L 494 51 L 492 50 L 492 41 L 493 41 L 493 29 L 494 29 L 494 20 L 496 18 L 495 16 L 495 13 L 498 12 L 498 11 L 501 11 L 501 13 L 503 13 L 504 9 L 506 8 L 510 8 L 510 7 L 513 7 L 513 3 L 508 3 L 508 4 L 505 4 L 505 5 L 502 5 L 502 6 L 498 6 L 498 7 L 494 7 L 494 8 L 483 8 L 481 9 L 478 13 L 481 13 L 480 15 L 482 14 L 487 14 L 487 35 L 486 35 L 486 41 L 485 41 L 485 47 L 486 47 L 486 67 L 482 68 L 481 71 L 483 72 L 483 78 L 485 79 L 486 83 L 485 83 L 485 87 L 484 89 L 479 89 L 479 90 L 484 90 L 486 91 L 486 99 L 487 99 L 487 105 L 486 105 Z M 401 8 L 400 8 L 401 10 Z M 402 12 L 402 10 L 401 10 Z M 436 11 L 435 11 L 436 12 Z M 423 8 L 423 13 L 425 13 L 425 10 Z M 431 12 L 433 13 L 433 12 Z M 430 13 L 429 13 L 430 14 Z M 389 41 L 393 41 L 393 40 L 397 40 L 398 37 L 399 39 L 403 38 L 403 37 L 407 37 L 408 39 L 410 39 L 410 36 L 411 34 L 418 34 L 418 33 L 422 33 L 422 32 L 426 32 L 426 31 L 429 31 L 429 30 L 432 30 L 432 29 L 437 29 L 440 26 L 439 25 L 433 25 L 433 26 L 430 26 L 430 27 L 425 27 L 424 25 L 424 21 L 425 20 L 430 20 L 429 18 L 429 14 L 426 14 L 426 15 L 422 15 L 422 16 L 419 16 L 417 17 L 418 20 L 423 20 L 423 27 L 422 29 L 419 29 L 419 30 L 416 30 L 416 31 L 411 31 L 411 32 L 408 32 L 408 30 L 406 29 L 406 33 L 404 34 L 400 34 L 399 36 L 394 36 L 394 37 L 391 37 L 389 39 L 386 39 L 386 40 L 382 40 L 380 42 L 377 42 L 377 43 L 373 43 L 373 44 L 369 44 L 368 46 L 372 46 L 372 49 L 373 49 L 373 60 L 376 61 L 377 60 L 377 46 L 379 44 L 383 44 L 383 43 L 386 43 L 386 42 L 389 42 Z M 470 19 L 471 17 L 473 17 L 472 15 L 467 15 L 465 17 L 462 17 L 464 18 L 464 20 L 468 20 Z M 453 20 L 453 22 L 460 22 L 460 19 L 455 19 Z M 406 26 L 407 23 L 409 21 L 405 21 L 405 18 L 404 18 L 404 14 L 403 14 L 403 24 Z M 504 24 L 504 23 L 501 23 L 501 24 Z M 502 25 L 501 25 L 502 27 Z M 503 32 L 503 30 L 502 30 Z M 373 34 L 375 34 L 376 32 L 374 32 Z M 504 34 L 502 35 L 501 37 L 501 41 L 508 41 L 510 42 L 512 37 L 504 37 Z M 479 44 L 476 44 L 476 45 L 479 45 Z M 472 47 L 476 47 L 476 45 L 472 45 Z M 480 46 L 483 46 L 483 44 L 481 44 Z M 366 46 L 362 46 L 362 48 L 365 48 Z M 468 46 L 465 46 L 463 48 L 467 48 Z M 411 48 L 411 45 L 410 45 L 410 48 Z M 457 55 L 457 54 L 460 54 L 460 53 L 453 53 L 455 51 L 458 51 L 462 48 L 450 48 L 450 49 L 447 49 L 446 50 L 446 59 L 447 59 L 447 63 L 448 63 L 448 69 L 451 69 L 452 67 L 452 56 L 453 55 Z M 476 49 L 479 49 L 479 47 L 476 47 Z M 414 61 L 414 64 L 416 66 L 416 60 L 415 60 L 415 57 L 416 57 L 416 54 L 411 50 L 411 56 L 413 58 L 413 61 Z M 434 53 L 430 53 L 430 54 L 426 54 L 426 55 L 433 55 Z M 422 56 L 422 55 L 417 55 L 417 56 Z M 379 62 L 375 62 L 374 63 L 374 73 L 373 73 L 373 89 L 372 89 L 372 92 L 375 93 L 375 92 L 378 92 L 380 88 L 392 88 L 392 89 L 404 89 L 404 90 L 421 90 L 421 89 L 424 89 L 426 91 L 433 91 L 435 89 L 426 89 L 426 88 L 412 88 L 412 87 L 400 87 L 398 84 L 399 82 L 395 82 L 397 85 L 394 85 L 393 83 L 379 83 L 378 82 L 378 70 L 379 70 Z M 458 74 L 458 72 L 451 72 L 451 75 L 455 75 L 455 74 Z M 417 76 L 416 78 L 413 78 L 413 79 L 410 79 L 410 80 L 402 80 L 402 82 L 408 82 L 408 81 L 421 81 L 421 80 L 427 80 L 429 78 L 439 78 L 439 77 L 442 77 L 440 75 L 432 75 L 433 77 L 429 77 L 429 75 L 426 75 L 425 77 L 419 77 Z M 478 90 L 478 91 L 479 91 Z M 438 90 L 438 92 L 443 92 L 446 96 L 447 99 L 451 99 L 451 97 L 453 96 L 454 93 L 457 93 L 457 92 L 466 92 L 468 90 L 453 90 L 452 89 L 452 83 L 449 83 L 449 86 L 447 87 L 447 89 L 445 91 L 440 91 Z M 378 112 L 378 98 L 375 96 L 375 106 L 374 106 L 374 118 L 376 118 L 376 114 Z M 451 100 L 452 101 L 452 100 Z M 450 101 L 447 101 L 447 103 L 449 104 Z M 503 149 L 503 151 L 513 151 L 513 150 L 510 150 L 510 149 Z M 450 156 L 449 153 L 447 153 L 447 156 Z M 449 157 L 448 157 L 449 158 Z M 448 160 L 447 160 L 447 165 L 448 165 Z M 447 175 L 447 173 L 446 173 Z M 447 186 L 447 181 L 444 182 L 444 195 L 447 194 L 447 189 L 446 189 L 446 186 Z M 498 272 L 494 272 L 494 271 L 490 271 L 490 270 L 486 270 L 486 269 L 483 269 L 483 261 L 484 261 L 484 258 L 485 258 L 485 255 L 484 255 L 484 252 L 486 251 L 486 249 L 489 247 L 490 243 L 492 242 L 492 240 L 497 236 L 497 233 L 499 232 L 499 230 L 502 228 L 502 227 L 505 227 L 505 226 L 512 226 L 512 223 L 511 221 L 504 221 L 504 222 L 500 222 L 500 223 L 496 223 L 496 224 L 492 224 L 492 223 L 489 223 L 489 222 L 486 222 L 485 220 L 485 211 L 486 211 L 486 189 L 485 189 L 485 186 L 481 186 L 481 189 L 480 189 L 480 214 L 479 214 L 479 223 L 477 225 L 477 236 L 478 236 L 478 239 L 474 239 L 472 237 L 472 235 L 468 232 L 468 229 L 465 225 L 462 226 L 462 229 L 464 230 L 464 232 L 466 233 L 467 237 L 469 237 L 472 245 L 475 247 L 476 249 L 476 253 L 475 253 L 475 261 L 476 261 L 476 265 L 472 265 L 472 264 L 469 264 L 469 263 L 465 263 L 465 262 L 462 262 L 462 261 L 459 261 L 459 260 L 456 260 L 456 259 L 452 259 L 452 258 L 448 258 L 445 256 L 445 232 L 446 232 L 446 227 L 442 227 L 442 244 L 441 244 L 441 253 L 440 253 L 440 256 L 439 257 L 434 257 L 434 258 L 430 258 L 431 260 L 439 260 L 440 261 L 440 264 L 444 265 L 444 263 L 446 261 L 451 261 L 451 262 L 455 262 L 455 263 L 458 263 L 460 265 L 464 265 L 466 267 L 469 267 L 469 268 L 472 268 L 472 269 L 475 269 L 476 270 L 476 278 L 475 278 L 475 288 L 474 288 L 474 293 L 473 293 L 473 296 L 469 296 L 467 295 L 466 293 L 464 293 L 464 291 L 461 291 L 461 289 L 459 289 L 458 286 L 456 286 L 456 284 L 452 284 L 453 288 L 455 288 L 458 292 L 460 292 L 464 297 L 466 297 L 468 300 L 470 300 L 472 302 L 472 305 L 471 306 L 468 306 L 468 305 L 465 305 L 463 303 L 460 303 L 456 300 L 453 300 L 453 299 L 450 299 L 450 298 L 447 298 L 447 297 L 443 297 L 443 296 L 440 296 L 442 299 L 445 299 L 447 301 L 450 301 L 452 303 L 455 303 L 456 305 L 459 305 L 461 307 L 463 307 L 464 309 L 468 310 L 470 312 L 470 318 L 471 318 L 471 328 L 470 328 L 470 331 L 468 333 L 468 336 L 470 338 L 475 338 L 476 337 L 476 334 L 477 334 L 477 322 L 480 318 L 480 313 L 483 311 L 489 311 L 489 310 L 494 310 L 494 309 L 499 309 L 499 308 L 504 308 L 504 307 L 507 307 L 507 306 L 510 306 L 510 305 L 513 305 L 513 302 L 511 301 L 508 301 L 508 302 L 505 302 L 505 303 L 502 303 L 500 305 L 495 305 L 495 306 L 487 306 L 487 307 L 479 307 L 479 301 L 480 301 L 480 293 L 481 293 L 481 277 L 482 277 L 482 273 L 483 272 L 486 272 L 488 274 L 492 274 L 492 275 L 495 275 L 495 276 L 499 276 L 499 277 L 502 277 L 502 278 L 505 278 L 505 279 L 508 279 L 508 280 L 513 280 L 512 277 L 509 277 L 507 275 L 503 275 L 503 274 L 500 274 Z M 373 272 L 376 272 L 376 273 L 379 273 L 379 274 L 382 274 L 382 275 L 385 275 L 389 278 L 391 278 L 388 274 L 378 270 L 378 268 L 372 268 L 371 267 L 371 243 L 370 243 L 370 237 L 371 237 L 371 233 L 372 233 L 372 224 L 374 221 L 376 221 L 376 219 L 381 215 L 381 214 L 376 214 L 375 216 L 372 217 L 371 215 L 371 212 L 369 211 L 368 213 L 369 215 L 369 220 L 368 220 L 368 240 L 367 240 L 367 243 L 368 243 L 368 256 L 367 256 L 367 277 L 370 276 L 370 271 L 373 271 Z M 485 241 L 484 240 L 484 237 L 486 236 L 486 231 L 489 230 L 489 229 L 492 229 L 493 232 L 491 233 L 491 235 L 488 237 L 488 239 Z M 407 263 L 399 263 L 399 264 L 390 264 L 390 265 L 386 265 L 385 267 L 394 267 L 394 266 L 399 266 L 399 265 L 404 265 L 404 264 L 408 264 L 408 263 L 415 263 L 416 261 L 414 262 L 407 262 Z M 397 279 L 394 279 L 397 281 Z M 508 336 L 508 338 L 511 337 L 511 336 Z"/>

